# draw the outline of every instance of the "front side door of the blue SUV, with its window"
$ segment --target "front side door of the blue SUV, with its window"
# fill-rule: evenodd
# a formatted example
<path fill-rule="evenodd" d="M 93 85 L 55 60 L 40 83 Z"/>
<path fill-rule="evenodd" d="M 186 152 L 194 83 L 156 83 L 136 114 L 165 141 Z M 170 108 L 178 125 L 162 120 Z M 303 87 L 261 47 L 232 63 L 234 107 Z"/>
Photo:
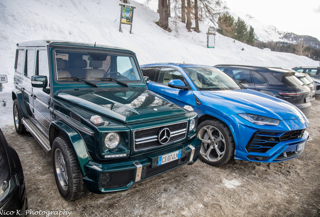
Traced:
<path fill-rule="evenodd" d="M 168 83 L 173 79 L 180 79 L 186 83 L 184 76 L 178 69 L 172 67 L 161 67 L 154 80 L 150 79 L 154 82 L 149 82 L 148 89 L 162 95 L 179 106 L 183 107 L 186 104 L 193 107 L 196 106 L 192 90 L 182 90 L 168 86 Z"/>

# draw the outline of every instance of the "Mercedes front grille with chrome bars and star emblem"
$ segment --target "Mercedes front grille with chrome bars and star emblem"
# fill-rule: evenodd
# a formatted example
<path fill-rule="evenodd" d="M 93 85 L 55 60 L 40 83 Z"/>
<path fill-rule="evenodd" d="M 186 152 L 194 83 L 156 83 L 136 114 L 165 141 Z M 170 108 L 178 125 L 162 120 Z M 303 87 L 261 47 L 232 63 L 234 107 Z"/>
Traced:
<path fill-rule="evenodd" d="M 168 145 L 184 139 L 187 135 L 188 122 L 180 122 L 171 125 L 163 125 L 134 131 L 134 150 L 145 150 L 158 146 Z M 166 144 L 158 141 L 161 130 L 168 128 L 171 132 L 170 140 Z"/>

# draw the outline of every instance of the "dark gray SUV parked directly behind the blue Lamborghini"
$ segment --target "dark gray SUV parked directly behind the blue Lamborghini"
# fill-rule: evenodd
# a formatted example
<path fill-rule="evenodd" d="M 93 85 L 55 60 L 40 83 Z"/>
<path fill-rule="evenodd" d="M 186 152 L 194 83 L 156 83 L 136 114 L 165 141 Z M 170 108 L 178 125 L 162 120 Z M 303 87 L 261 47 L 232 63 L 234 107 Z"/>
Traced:
<path fill-rule="evenodd" d="M 243 66 L 214 66 L 241 83 L 248 89 L 255 89 L 276 96 L 297 106 L 306 117 L 311 110 L 311 90 L 294 76 L 290 69 Z"/>

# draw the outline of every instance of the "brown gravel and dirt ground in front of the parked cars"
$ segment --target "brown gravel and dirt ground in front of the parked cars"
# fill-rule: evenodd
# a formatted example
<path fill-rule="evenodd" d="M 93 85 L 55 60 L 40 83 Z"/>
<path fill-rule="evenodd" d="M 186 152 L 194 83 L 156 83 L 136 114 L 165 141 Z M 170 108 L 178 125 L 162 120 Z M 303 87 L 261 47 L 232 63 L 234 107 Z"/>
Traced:
<path fill-rule="evenodd" d="M 89 193 L 71 202 L 57 190 L 51 155 L 30 134 L 18 135 L 13 124 L 2 130 L 22 161 L 31 216 L 320 216 L 319 114 L 320 96 L 308 118 L 308 143 L 293 160 L 234 161 L 219 168 L 198 160 L 127 191 Z"/>

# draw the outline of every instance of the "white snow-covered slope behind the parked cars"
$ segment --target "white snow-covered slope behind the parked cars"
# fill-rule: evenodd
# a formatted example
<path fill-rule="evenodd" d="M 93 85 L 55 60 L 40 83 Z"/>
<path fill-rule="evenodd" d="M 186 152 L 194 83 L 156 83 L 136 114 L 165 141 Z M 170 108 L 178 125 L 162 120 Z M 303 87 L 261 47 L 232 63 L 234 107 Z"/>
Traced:
<path fill-rule="evenodd" d="M 143 2 L 143 0 L 139 0 Z M 215 48 L 206 48 L 208 26 L 200 23 L 201 33 L 188 32 L 185 24 L 170 19 L 172 31 L 154 22 L 159 17 L 147 6 L 130 0 L 134 10 L 130 26 L 119 32 L 118 0 L 5 0 L 0 2 L 0 74 L 8 76 L 0 92 L 0 127 L 13 125 L 11 91 L 13 88 L 16 44 L 49 39 L 89 42 L 123 47 L 134 51 L 140 64 L 186 62 L 194 64 L 248 64 L 294 67 L 318 66 L 304 56 L 259 49 L 217 34 Z M 6 106 L 4 106 L 4 102 Z"/>

